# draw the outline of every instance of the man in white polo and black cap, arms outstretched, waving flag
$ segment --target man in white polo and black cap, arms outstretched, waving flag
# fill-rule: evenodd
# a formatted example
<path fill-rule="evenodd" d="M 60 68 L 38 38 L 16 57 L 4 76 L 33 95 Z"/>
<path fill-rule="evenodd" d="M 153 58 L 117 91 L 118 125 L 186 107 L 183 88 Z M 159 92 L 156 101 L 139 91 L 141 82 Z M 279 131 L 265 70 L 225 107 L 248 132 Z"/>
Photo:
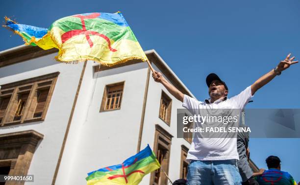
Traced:
<path fill-rule="evenodd" d="M 270 82 L 276 75 L 280 75 L 281 71 L 288 69 L 290 65 L 298 63 L 298 61 L 293 61 L 295 57 L 290 58 L 290 56 L 291 54 L 281 61 L 275 69 L 272 69 L 240 94 L 231 98 L 227 98 L 228 88 L 225 82 L 215 73 L 209 74 L 206 77 L 206 84 L 210 99 L 205 99 L 204 102 L 181 93 L 160 72 L 155 71 L 152 76 L 156 82 L 163 84 L 175 98 L 183 102 L 182 106 L 193 115 L 201 114 L 199 110 L 207 110 L 208 112 L 213 109 L 242 110 L 258 89 Z M 241 185 L 242 179 L 236 164 L 236 160 L 239 159 L 237 139 L 195 136 L 187 155 L 187 159 L 190 160 L 187 184 Z"/>

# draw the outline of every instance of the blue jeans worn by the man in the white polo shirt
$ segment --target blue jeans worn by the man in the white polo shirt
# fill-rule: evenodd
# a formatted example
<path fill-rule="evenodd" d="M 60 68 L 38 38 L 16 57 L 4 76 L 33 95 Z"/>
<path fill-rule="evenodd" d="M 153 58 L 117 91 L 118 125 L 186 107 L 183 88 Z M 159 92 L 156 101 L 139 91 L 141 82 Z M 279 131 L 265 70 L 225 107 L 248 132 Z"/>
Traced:
<path fill-rule="evenodd" d="M 236 160 L 192 160 L 188 165 L 187 181 L 187 185 L 242 185 Z"/>

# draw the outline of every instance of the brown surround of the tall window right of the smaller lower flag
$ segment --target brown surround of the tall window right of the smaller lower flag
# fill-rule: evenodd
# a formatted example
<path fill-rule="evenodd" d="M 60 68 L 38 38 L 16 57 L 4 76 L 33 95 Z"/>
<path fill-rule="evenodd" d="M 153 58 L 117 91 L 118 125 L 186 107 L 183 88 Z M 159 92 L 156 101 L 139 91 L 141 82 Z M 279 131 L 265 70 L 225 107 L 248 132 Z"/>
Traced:
<path fill-rule="evenodd" d="M 154 135 L 154 147 L 153 147 L 153 152 L 155 153 L 157 157 L 157 152 L 158 152 L 158 145 L 161 147 L 165 148 L 167 150 L 167 154 L 165 156 L 165 160 L 163 163 L 161 163 L 162 169 L 166 172 L 166 174 L 169 173 L 169 163 L 170 163 L 170 152 L 171 152 L 171 144 L 172 144 L 172 138 L 173 136 L 169 134 L 165 129 L 163 129 L 160 125 L 156 124 L 155 125 L 155 135 Z M 167 185 L 168 184 L 168 178 L 164 174 L 164 172 L 160 169 L 158 169 L 160 172 L 160 180 L 159 184 L 154 183 L 154 178 L 155 178 L 155 173 L 151 172 L 150 175 L 150 185 Z"/>

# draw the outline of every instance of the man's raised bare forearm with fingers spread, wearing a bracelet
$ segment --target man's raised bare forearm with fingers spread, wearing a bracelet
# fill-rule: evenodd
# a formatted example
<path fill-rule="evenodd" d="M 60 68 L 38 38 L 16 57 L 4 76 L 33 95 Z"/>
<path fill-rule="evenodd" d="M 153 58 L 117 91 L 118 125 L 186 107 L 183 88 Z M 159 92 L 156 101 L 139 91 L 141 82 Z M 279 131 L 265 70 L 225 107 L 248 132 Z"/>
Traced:
<path fill-rule="evenodd" d="M 261 87 L 269 83 L 275 76 L 276 76 L 276 71 L 278 73 L 281 73 L 281 71 L 288 69 L 291 65 L 298 63 L 298 61 L 293 61 L 295 57 L 291 57 L 291 53 L 288 54 L 288 56 L 285 58 L 285 60 L 279 62 L 278 66 L 276 69 L 272 69 L 270 72 L 267 74 L 263 75 L 260 77 L 258 80 L 256 80 L 252 85 L 251 85 L 251 93 L 252 95 L 259 90 Z M 275 71 L 276 70 L 276 71 Z"/>

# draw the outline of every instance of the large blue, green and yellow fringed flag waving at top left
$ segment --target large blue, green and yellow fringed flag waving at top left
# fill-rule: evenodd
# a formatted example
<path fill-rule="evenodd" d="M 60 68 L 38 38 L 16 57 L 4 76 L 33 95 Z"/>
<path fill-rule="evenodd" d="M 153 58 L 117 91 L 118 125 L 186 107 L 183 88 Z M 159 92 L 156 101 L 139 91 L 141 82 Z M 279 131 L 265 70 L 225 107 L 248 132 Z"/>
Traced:
<path fill-rule="evenodd" d="M 58 48 L 55 59 L 59 62 L 93 60 L 114 66 L 131 59 L 148 60 L 120 12 L 73 15 L 55 21 L 48 29 L 5 20 L 4 26 L 20 35 L 26 45 Z"/>

